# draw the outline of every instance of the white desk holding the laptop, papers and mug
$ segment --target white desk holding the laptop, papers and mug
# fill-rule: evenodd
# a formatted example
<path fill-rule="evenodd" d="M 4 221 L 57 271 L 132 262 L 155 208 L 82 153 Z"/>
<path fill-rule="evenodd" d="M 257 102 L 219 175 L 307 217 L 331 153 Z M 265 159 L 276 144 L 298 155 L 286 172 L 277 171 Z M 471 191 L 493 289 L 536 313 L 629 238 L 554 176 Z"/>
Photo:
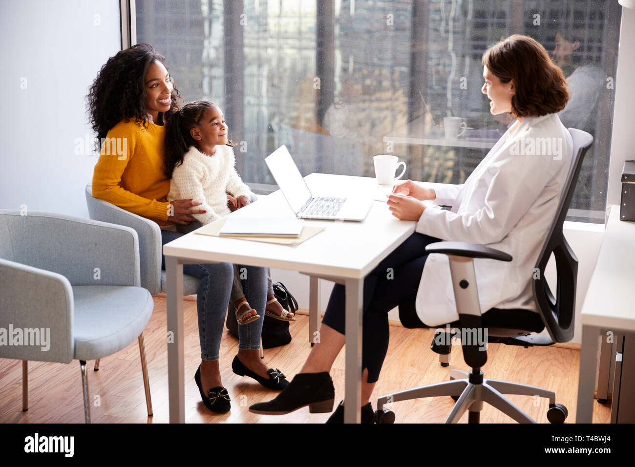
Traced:
<path fill-rule="evenodd" d="M 378 187 L 375 179 L 312 173 L 305 177 L 315 195 L 337 187 L 345 196 L 364 194 L 381 198 L 389 189 Z M 385 196 L 384 196 L 385 197 Z M 232 215 L 246 217 L 291 217 L 293 212 L 278 190 L 245 206 Z M 323 226 L 324 231 L 295 247 L 257 241 L 217 238 L 194 232 L 164 245 L 168 280 L 168 389 L 170 422 L 185 422 L 183 350 L 183 264 L 232 262 L 250 266 L 292 269 L 315 277 L 330 278 L 346 287 L 346 371 L 345 409 L 347 423 L 359 423 L 361 406 L 362 290 L 364 277 L 415 231 L 415 222 L 391 215 L 387 205 L 373 201 L 363 222 L 305 220 L 307 226 Z M 315 282 L 313 282 L 315 283 Z M 229 361 L 223 362 L 229 365 Z"/>

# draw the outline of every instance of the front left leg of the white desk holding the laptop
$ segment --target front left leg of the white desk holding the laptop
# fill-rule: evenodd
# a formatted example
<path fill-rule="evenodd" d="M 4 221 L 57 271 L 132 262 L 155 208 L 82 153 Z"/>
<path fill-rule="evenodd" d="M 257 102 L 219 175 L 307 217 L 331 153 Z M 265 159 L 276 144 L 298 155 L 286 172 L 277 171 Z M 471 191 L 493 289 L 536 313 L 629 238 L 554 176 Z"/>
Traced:
<path fill-rule="evenodd" d="M 168 393 L 170 423 L 185 423 L 183 351 L 183 264 L 166 256 L 168 280 Z"/>

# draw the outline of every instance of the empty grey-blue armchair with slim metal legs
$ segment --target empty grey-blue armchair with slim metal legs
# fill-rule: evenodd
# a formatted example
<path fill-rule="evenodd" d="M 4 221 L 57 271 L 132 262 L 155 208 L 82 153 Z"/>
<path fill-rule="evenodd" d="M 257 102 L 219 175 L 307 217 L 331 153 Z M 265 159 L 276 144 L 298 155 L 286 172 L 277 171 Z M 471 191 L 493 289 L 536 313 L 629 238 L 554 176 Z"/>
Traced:
<path fill-rule="evenodd" d="M 0 358 L 23 361 L 23 410 L 28 409 L 29 360 L 79 360 L 84 418 L 90 423 L 86 360 L 112 355 L 137 338 L 152 415 L 143 330 L 154 302 L 139 285 L 133 229 L 54 213 L 0 210 L 0 327 L 22 332 L 22 344 L 0 346 Z"/>

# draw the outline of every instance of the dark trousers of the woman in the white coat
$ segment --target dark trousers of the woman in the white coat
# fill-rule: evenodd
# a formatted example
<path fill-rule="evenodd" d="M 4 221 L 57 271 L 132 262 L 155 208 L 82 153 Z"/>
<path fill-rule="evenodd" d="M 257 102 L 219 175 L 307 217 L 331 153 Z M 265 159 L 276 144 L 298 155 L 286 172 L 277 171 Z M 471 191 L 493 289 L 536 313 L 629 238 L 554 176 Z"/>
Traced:
<path fill-rule="evenodd" d="M 388 312 L 401 302 L 415 300 L 428 257 L 425 246 L 437 241 L 441 240 L 412 234 L 364 279 L 362 369 L 368 369 L 368 382 L 379 379 L 388 351 Z M 344 285 L 333 287 L 322 322 L 345 334 Z"/>

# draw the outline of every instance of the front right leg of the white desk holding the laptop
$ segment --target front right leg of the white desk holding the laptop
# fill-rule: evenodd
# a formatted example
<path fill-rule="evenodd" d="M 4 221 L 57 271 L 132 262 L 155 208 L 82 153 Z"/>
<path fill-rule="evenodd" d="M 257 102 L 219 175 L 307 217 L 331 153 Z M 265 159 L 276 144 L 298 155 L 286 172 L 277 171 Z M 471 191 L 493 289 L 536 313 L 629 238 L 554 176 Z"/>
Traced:
<path fill-rule="evenodd" d="M 361 422 L 361 346 L 364 279 L 346 280 L 344 423 Z"/>

